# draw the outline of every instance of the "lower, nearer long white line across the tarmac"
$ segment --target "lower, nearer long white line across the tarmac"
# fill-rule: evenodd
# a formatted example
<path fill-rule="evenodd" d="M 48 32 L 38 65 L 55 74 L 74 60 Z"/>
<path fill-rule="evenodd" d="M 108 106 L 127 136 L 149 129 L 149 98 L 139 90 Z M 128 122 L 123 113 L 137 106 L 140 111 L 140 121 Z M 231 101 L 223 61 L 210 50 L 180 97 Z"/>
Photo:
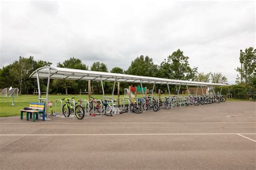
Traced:
<path fill-rule="evenodd" d="M 169 135 L 237 135 L 256 133 L 99 133 L 99 134 L 0 134 L 0 136 L 169 136 Z"/>

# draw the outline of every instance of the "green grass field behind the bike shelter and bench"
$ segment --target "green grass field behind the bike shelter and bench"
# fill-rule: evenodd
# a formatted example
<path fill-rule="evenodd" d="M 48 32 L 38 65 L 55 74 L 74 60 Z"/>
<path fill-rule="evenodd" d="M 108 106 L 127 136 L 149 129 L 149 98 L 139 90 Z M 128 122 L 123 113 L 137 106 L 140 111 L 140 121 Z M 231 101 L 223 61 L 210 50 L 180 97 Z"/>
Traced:
<path fill-rule="evenodd" d="M 102 95 L 92 95 L 93 97 L 100 100 L 102 98 Z M 106 95 L 111 96 L 111 95 Z M 138 95 L 138 97 L 141 97 L 142 95 Z M 49 101 L 53 101 L 53 111 L 55 110 L 55 100 L 62 99 L 65 97 L 75 97 L 75 100 L 78 101 L 80 98 L 84 98 L 88 100 L 88 95 L 49 95 Z M 117 98 L 117 95 L 115 96 Z M 120 95 L 120 97 L 123 97 L 123 95 Z M 45 96 L 42 96 L 42 98 L 45 98 Z M 21 95 L 19 97 L 14 97 L 15 106 L 11 106 L 11 97 L 0 97 L 0 117 L 7 117 L 7 116 L 17 116 L 20 115 L 19 110 L 29 107 L 30 102 L 38 102 L 38 95 Z M 227 101 L 243 101 L 243 100 L 227 100 Z M 250 100 L 251 101 L 251 100 Z M 58 103 L 58 106 L 60 104 Z M 57 107 L 57 112 L 60 112 L 60 107 Z"/>

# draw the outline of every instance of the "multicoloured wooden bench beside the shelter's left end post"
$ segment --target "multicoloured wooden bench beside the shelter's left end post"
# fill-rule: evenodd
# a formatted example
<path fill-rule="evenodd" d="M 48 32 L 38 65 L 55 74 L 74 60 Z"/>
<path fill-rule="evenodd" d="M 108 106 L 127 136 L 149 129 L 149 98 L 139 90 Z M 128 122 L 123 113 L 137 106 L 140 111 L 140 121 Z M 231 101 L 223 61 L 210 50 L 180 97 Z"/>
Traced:
<path fill-rule="evenodd" d="M 21 119 L 23 119 L 23 112 L 26 112 L 26 120 L 29 121 L 33 117 L 33 122 L 38 119 L 38 115 L 42 114 L 43 121 L 45 120 L 45 103 L 31 102 L 28 109 L 21 110 Z"/>

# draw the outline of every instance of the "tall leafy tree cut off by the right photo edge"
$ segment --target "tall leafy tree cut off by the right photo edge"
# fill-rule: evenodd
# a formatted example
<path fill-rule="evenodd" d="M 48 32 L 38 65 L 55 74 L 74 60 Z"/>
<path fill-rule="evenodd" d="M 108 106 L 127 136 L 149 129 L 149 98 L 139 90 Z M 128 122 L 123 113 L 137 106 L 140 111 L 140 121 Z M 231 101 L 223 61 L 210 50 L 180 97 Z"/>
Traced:
<path fill-rule="evenodd" d="M 247 86 L 248 84 L 252 83 L 252 80 L 256 76 L 255 68 L 256 68 L 256 49 L 253 47 L 246 48 L 245 52 L 240 49 L 240 57 L 239 61 L 241 63 L 241 67 L 237 67 L 237 72 L 240 73 L 240 83 L 245 83 Z"/>

